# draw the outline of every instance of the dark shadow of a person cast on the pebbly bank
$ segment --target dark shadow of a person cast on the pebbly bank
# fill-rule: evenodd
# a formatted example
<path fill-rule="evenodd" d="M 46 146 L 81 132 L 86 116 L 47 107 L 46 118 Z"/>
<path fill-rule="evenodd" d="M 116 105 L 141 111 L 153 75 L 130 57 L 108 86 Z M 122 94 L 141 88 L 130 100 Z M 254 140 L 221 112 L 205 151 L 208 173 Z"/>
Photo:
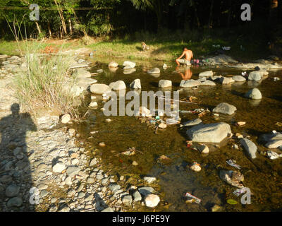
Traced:
<path fill-rule="evenodd" d="M 18 103 L 0 119 L 0 211 L 34 211 L 37 193 L 30 194 L 32 177 L 27 151 L 27 131 L 37 131 L 29 113 L 20 113 Z M 33 203 L 33 204 L 32 204 Z"/>

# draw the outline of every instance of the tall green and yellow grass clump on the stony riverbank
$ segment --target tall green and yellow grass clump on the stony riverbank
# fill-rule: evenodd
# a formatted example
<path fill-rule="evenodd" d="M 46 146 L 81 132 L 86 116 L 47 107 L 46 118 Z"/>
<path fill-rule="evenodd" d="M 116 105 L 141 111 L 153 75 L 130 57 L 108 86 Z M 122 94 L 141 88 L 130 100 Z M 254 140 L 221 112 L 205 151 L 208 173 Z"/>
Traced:
<path fill-rule="evenodd" d="M 15 90 L 24 109 L 37 113 L 42 109 L 78 116 L 80 100 L 73 97 L 74 78 L 70 75 L 71 57 L 56 53 L 40 54 L 43 42 L 25 42 L 27 71 L 18 73 Z"/>

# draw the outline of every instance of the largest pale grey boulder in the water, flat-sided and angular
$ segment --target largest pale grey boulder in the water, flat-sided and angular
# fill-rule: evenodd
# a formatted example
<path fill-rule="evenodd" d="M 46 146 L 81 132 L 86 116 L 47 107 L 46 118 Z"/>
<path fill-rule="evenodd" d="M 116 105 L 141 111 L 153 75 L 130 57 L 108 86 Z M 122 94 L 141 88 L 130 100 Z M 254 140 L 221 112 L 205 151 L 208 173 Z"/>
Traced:
<path fill-rule="evenodd" d="M 186 131 L 188 138 L 195 142 L 220 143 L 231 135 L 231 127 L 225 122 L 199 124 Z"/>

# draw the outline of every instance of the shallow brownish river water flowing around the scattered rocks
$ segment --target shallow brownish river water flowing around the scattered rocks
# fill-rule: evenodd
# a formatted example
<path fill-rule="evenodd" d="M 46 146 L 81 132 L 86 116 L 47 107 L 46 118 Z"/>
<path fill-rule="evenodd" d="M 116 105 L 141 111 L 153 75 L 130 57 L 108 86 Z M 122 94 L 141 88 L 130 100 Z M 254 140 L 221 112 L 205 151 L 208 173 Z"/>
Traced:
<path fill-rule="evenodd" d="M 89 59 L 93 63 L 97 59 Z M 168 65 L 168 69 L 162 69 L 161 61 L 145 62 L 137 61 L 136 71 L 130 74 L 124 74 L 123 69 L 110 71 L 107 64 L 112 59 L 99 59 L 100 62 L 93 66 L 91 71 L 103 69 L 93 78 L 98 83 L 109 85 L 112 81 L 124 81 L 127 91 L 130 90 L 129 84 L 136 78 L 140 78 L 142 91 L 159 90 L 158 83 L 160 79 L 168 79 L 173 83 L 171 90 L 179 90 L 179 83 L 182 76 L 174 73 L 176 66 Z M 123 59 L 115 59 L 120 65 Z M 161 69 L 160 75 L 152 76 L 146 73 L 147 69 L 152 67 Z M 184 70 L 184 69 L 180 69 Z M 192 78 L 197 79 L 201 71 L 212 70 L 216 75 L 234 76 L 240 75 L 241 70 L 221 67 L 211 69 L 205 67 L 192 67 Z M 185 70 L 183 71 L 185 75 Z M 280 81 L 274 81 L 274 77 L 281 78 Z M 251 88 L 259 88 L 262 93 L 262 100 L 248 100 L 243 95 Z M 226 121 L 231 125 L 233 134 L 241 133 L 250 136 L 259 149 L 257 158 L 250 160 L 245 155 L 245 151 L 240 148 L 232 148 L 233 144 L 238 144 L 238 139 L 230 139 L 221 144 L 207 144 L 210 149 L 208 155 L 202 155 L 199 151 L 186 146 L 188 138 L 185 136 L 187 128 L 180 128 L 179 125 L 168 126 L 164 130 L 154 128 L 154 125 L 142 123 L 142 120 L 136 117 L 106 117 L 100 110 L 104 106 L 102 100 L 97 99 L 98 108 L 88 110 L 90 113 L 85 116 L 80 124 L 76 124 L 76 130 L 80 133 L 80 139 L 85 143 L 89 155 L 101 157 L 104 169 L 116 174 L 125 176 L 123 182 L 118 182 L 125 189 L 131 185 L 144 186 L 142 177 L 149 175 L 157 177 L 157 182 L 150 184 L 155 190 L 159 191 L 161 203 L 156 208 L 157 211 L 210 211 L 214 204 L 222 206 L 223 211 L 276 211 L 282 210 L 282 165 L 281 159 L 270 160 L 264 155 L 267 150 L 260 143 L 257 143 L 257 137 L 263 133 L 269 133 L 273 130 L 282 131 L 282 127 L 276 125 L 276 122 L 282 122 L 282 71 L 269 71 L 269 76 L 260 82 L 245 81 L 243 83 L 232 83 L 231 85 L 200 86 L 197 90 L 186 88 L 180 91 L 180 98 L 187 96 L 197 97 L 199 105 L 180 104 L 180 110 L 192 110 L 196 108 L 212 109 L 221 102 L 228 102 L 237 107 L 237 111 L 232 116 L 219 115 L 219 119 L 212 117 L 212 114 L 206 114 L 201 117 L 204 124 Z M 86 98 L 86 106 L 90 102 L 90 95 Z M 105 119 L 111 119 L 106 122 Z M 185 114 L 181 117 L 182 122 L 197 118 L 197 114 Z M 235 121 L 246 121 L 245 126 L 235 126 Z M 91 134 L 91 131 L 98 133 Z M 104 142 L 105 147 L 100 147 L 99 142 Z M 197 143 L 193 143 L 196 146 Z M 128 148 L 135 147 L 140 152 L 135 155 L 127 156 L 121 153 Z M 280 150 L 274 150 L 281 153 Z M 158 162 L 161 155 L 171 158 L 168 165 L 162 165 Z M 245 180 L 244 185 L 252 191 L 251 204 L 243 205 L 240 203 L 240 197 L 235 196 L 233 191 L 235 187 L 226 184 L 219 178 L 220 169 L 234 170 L 229 166 L 226 160 L 232 159 L 242 168 Z M 137 166 L 132 164 L 138 163 Z M 192 162 L 198 162 L 202 170 L 193 172 L 189 166 Z M 202 202 L 185 203 L 185 193 L 200 198 Z M 238 204 L 230 205 L 226 203 L 228 198 L 232 198 Z M 143 206 L 135 206 L 129 210 L 152 209 Z"/>

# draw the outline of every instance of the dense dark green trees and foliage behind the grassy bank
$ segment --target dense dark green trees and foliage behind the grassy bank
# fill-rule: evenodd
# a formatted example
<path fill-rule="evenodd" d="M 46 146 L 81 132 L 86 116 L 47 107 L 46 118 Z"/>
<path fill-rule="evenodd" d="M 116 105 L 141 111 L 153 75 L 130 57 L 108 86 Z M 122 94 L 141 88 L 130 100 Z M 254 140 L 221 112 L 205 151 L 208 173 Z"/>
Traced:
<path fill-rule="evenodd" d="M 39 21 L 29 18 L 34 3 L 40 6 Z M 240 19 L 244 3 L 252 8 L 251 21 Z M 24 37 L 25 32 L 27 37 L 110 37 L 244 27 L 271 40 L 281 36 L 281 15 L 281 0 L 1 0 L 0 35 L 11 38 L 11 28 L 22 21 Z"/>

